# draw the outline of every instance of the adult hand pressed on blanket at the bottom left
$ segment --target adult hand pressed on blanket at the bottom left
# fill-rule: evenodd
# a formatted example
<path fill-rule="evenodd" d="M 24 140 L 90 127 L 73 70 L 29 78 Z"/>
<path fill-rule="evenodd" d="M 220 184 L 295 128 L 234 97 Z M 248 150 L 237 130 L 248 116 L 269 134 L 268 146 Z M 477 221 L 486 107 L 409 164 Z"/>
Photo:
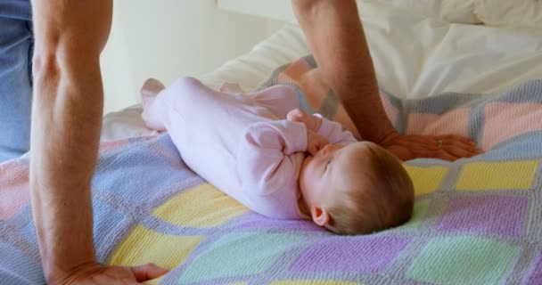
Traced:
<path fill-rule="evenodd" d="M 148 264 L 136 267 L 103 266 L 88 264 L 78 266 L 66 276 L 53 277 L 51 284 L 143 284 L 168 270 Z"/>

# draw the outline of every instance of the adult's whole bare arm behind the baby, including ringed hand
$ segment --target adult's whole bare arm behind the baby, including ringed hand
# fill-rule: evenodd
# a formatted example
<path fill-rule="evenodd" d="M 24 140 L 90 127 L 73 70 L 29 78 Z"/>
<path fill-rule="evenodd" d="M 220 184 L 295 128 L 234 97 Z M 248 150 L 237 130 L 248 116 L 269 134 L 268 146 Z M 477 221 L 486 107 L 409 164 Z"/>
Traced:
<path fill-rule="evenodd" d="M 292 0 L 292 6 L 324 80 L 365 140 L 381 144 L 403 160 L 454 160 L 476 153 L 470 140 L 456 135 L 398 134 L 382 106 L 355 0 Z"/>

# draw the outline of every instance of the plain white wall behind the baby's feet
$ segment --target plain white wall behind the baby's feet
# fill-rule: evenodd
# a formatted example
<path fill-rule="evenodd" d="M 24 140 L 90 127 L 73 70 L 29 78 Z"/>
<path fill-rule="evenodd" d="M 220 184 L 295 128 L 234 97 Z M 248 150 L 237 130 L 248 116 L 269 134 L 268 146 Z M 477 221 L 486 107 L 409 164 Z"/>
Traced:
<path fill-rule="evenodd" d="M 166 85 L 246 53 L 280 23 L 218 10 L 214 0 L 117 0 L 102 56 L 105 112 L 140 102 L 148 77 Z"/>

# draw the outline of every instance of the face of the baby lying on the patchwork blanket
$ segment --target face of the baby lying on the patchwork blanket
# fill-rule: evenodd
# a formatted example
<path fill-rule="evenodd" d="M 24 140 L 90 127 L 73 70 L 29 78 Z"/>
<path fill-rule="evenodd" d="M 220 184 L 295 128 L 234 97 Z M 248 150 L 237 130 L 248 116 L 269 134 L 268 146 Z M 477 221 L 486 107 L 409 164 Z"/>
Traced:
<path fill-rule="evenodd" d="M 370 151 L 367 142 L 355 142 L 349 145 L 328 144 L 309 155 L 304 161 L 300 172 L 300 190 L 308 208 L 321 207 L 326 191 L 337 189 L 338 183 L 345 183 L 349 175 L 359 175 L 364 169 L 353 169 L 363 166 L 363 163 L 352 163 L 352 158 L 363 158 L 359 151 Z M 361 154 L 361 155 L 360 155 Z M 340 196 L 340 195 L 337 195 Z"/>

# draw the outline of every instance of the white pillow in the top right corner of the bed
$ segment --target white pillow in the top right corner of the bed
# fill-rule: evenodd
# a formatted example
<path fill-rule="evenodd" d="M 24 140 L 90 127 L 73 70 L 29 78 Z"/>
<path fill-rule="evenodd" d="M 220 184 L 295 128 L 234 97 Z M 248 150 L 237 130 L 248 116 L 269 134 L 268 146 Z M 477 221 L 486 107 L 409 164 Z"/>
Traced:
<path fill-rule="evenodd" d="M 542 0 L 477 0 L 476 14 L 487 26 L 542 28 Z"/>

